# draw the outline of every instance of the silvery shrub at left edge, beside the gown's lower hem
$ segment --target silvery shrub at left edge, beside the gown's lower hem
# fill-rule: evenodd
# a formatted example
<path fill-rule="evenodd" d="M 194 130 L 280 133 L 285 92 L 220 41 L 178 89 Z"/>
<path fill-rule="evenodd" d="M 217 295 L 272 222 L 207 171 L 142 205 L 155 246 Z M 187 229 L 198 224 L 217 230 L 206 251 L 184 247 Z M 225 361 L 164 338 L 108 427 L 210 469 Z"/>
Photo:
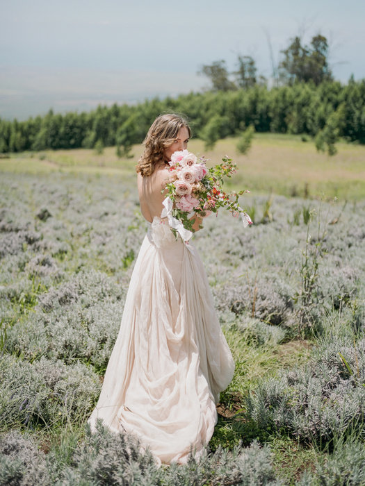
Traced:
<path fill-rule="evenodd" d="M 33 363 L 0 356 L 0 427 L 51 428 L 84 421 L 100 391 L 99 377 L 85 364 L 40 358 Z"/>

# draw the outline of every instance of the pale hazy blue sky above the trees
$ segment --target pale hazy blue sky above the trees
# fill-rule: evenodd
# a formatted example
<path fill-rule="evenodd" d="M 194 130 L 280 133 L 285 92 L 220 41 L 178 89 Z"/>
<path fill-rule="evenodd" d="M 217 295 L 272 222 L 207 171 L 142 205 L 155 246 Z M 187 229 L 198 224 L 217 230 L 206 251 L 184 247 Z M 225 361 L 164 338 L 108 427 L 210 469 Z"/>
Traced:
<path fill-rule="evenodd" d="M 330 41 L 334 76 L 365 78 L 364 0 L 0 0 L 0 117 L 200 90 L 203 64 L 252 56 L 270 78 L 300 33 Z"/>

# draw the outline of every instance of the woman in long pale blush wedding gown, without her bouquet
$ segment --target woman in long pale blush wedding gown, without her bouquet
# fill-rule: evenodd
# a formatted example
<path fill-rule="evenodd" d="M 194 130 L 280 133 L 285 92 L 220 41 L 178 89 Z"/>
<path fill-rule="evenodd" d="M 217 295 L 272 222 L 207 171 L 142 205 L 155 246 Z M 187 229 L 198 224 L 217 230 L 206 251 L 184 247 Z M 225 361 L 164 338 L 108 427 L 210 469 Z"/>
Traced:
<path fill-rule="evenodd" d="M 161 219 L 172 153 L 186 149 L 188 123 L 156 118 L 137 165 L 148 231 L 133 269 L 102 392 L 88 420 L 138 436 L 158 461 L 197 457 L 213 435 L 216 403 L 234 361 L 213 307 L 202 260 Z M 199 229 L 202 219 L 195 219 Z"/>

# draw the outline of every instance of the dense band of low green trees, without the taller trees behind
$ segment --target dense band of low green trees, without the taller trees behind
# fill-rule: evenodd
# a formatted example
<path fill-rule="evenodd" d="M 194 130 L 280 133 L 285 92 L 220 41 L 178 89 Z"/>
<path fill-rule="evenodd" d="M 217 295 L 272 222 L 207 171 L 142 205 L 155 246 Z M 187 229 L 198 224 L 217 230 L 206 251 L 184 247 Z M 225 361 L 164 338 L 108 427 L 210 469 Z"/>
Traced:
<path fill-rule="evenodd" d="M 45 149 L 119 146 L 127 153 L 143 141 L 154 118 L 162 112 L 188 116 L 196 137 L 209 142 L 237 135 L 249 126 L 256 132 L 318 136 L 332 133 L 365 144 L 365 80 L 295 83 L 273 87 L 181 94 L 152 99 L 136 106 L 99 106 L 91 112 L 26 121 L 0 119 L 0 153 Z"/>

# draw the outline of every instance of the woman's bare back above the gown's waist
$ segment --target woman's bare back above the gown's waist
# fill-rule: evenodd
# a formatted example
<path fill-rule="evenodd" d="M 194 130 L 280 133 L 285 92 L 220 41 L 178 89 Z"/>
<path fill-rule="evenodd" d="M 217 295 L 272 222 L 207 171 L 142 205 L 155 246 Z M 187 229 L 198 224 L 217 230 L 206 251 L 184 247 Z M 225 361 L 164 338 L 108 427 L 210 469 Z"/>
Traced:
<path fill-rule="evenodd" d="M 137 185 L 140 199 L 140 212 L 147 221 L 152 223 L 155 216 L 161 216 L 162 201 L 166 193 L 161 191 L 169 181 L 169 171 L 165 165 L 156 167 L 151 176 L 141 176 L 138 172 Z"/>

